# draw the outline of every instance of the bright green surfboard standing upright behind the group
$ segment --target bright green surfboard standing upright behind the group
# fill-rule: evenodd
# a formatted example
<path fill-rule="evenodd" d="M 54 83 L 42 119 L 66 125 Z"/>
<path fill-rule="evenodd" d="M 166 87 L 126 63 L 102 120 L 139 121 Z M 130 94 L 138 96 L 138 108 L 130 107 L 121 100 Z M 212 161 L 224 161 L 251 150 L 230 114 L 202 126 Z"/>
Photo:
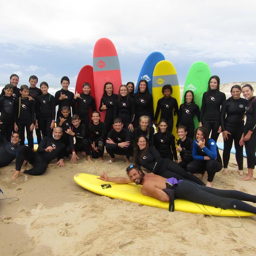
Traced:
<path fill-rule="evenodd" d="M 184 85 L 182 103 L 184 102 L 184 94 L 187 90 L 192 90 L 195 95 L 195 104 L 198 105 L 201 110 L 202 97 L 204 92 L 207 91 L 208 81 L 211 77 L 211 71 L 209 66 L 204 61 L 197 61 L 191 65 L 189 72 L 186 76 L 186 82 Z M 199 126 L 197 116 L 194 116 L 195 128 Z"/>

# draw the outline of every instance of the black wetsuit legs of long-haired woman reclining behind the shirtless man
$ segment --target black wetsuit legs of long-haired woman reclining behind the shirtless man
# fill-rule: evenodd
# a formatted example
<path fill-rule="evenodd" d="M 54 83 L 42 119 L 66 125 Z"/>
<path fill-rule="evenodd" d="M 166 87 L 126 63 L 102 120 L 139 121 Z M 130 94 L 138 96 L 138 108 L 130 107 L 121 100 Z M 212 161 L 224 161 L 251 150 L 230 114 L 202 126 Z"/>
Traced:
<path fill-rule="evenodd" d="M 175 177 L 176 179 L 178 178 L 180 180 L 187 179 L 187 180 L 194 181 L 199 185 L 205 186 L 204 182 L 198 179 L 198 177 L 195 177 L 195 175 L 192 175 L 191 173 L 186 172 L 177 163 L 168 159 L 163 159 L 163 162 L 158 168 L 156 174 L 165 178 Z"/>

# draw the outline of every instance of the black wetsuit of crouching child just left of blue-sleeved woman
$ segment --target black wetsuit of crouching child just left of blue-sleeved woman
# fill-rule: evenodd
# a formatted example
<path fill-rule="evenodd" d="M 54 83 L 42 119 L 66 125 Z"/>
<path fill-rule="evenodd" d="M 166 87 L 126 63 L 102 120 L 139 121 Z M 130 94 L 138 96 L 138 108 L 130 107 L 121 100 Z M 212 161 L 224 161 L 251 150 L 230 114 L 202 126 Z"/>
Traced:
<path fill-rule="evenodd" d="M 178 163 L 178 165 L 186 170 L 188 163 L 194 160 L 192 157 L 193 140 L 189 137 L 186 137 L 184 141 L 178 140 L 177 145 L 180 145 L 182 148 L 180 151 L 181 162 Z"/>

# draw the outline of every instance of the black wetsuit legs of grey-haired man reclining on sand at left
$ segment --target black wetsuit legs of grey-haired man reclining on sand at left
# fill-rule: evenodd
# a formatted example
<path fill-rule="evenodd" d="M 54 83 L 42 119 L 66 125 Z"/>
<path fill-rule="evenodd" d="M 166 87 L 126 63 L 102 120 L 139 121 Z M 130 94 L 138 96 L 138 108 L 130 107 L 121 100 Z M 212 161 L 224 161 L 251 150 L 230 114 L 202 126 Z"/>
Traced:
<path fill-rule="evenodd" d="M 25 170 L 24 173 L 30 175 L 42 175 L 46 169 L 47 164 L 44 163 L 40 155 L 27 146 L 20 146 L 16 157 L 16 170 L 20 171 L 22 163 L 27 160 L 32 166 L 32 169 Z"/>

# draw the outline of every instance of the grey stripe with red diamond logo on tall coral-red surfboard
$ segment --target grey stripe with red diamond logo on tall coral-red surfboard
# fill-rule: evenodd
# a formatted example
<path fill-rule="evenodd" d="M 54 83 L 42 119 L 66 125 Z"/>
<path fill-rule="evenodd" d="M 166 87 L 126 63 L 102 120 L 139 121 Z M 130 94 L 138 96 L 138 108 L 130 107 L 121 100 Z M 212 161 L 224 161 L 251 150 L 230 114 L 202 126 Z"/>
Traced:
<path fill-rule="evenodd" d="M 93 71 L 119 70 L 118 56 L 93 58 Z"/>

